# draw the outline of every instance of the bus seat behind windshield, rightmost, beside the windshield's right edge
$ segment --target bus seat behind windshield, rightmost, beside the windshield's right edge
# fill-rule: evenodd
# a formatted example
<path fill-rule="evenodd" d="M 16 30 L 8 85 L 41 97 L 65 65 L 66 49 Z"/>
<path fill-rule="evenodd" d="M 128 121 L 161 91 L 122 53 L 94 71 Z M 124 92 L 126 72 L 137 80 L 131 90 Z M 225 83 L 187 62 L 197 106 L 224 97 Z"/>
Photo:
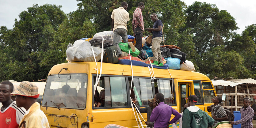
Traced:
<path fill-rule="evenodd" d="M 85 108 L 86 88 L 79 88 L 76 96 L 76 104 L 78 108 Z"/>

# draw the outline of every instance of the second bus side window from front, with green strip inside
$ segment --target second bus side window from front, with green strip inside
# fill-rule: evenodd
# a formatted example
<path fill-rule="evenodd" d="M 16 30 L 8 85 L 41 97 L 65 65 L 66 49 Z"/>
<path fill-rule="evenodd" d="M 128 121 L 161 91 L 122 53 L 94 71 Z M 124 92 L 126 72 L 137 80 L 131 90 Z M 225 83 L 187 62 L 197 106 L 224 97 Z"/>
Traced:
<path fill-rule="evenodd" d="M 131 78 L 129 83 L 131 84 Z M 148 78 L 133 78 L 131 98 L 136 99 L 136 103 L 141 105 L 148 105 L 148 99 L 153 99 L 153 90 L 151 80 Z"/>

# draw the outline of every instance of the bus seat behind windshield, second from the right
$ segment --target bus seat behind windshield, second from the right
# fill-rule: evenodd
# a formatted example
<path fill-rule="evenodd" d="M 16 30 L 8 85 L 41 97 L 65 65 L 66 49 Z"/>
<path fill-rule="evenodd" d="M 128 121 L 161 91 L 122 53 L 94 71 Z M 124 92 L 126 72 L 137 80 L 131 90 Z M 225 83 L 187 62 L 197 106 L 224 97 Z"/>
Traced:
<path fill-rule="evenodd" d="M 69 88 L 66 94 L 67 107 L 77 108 L 76 96 L 77 96 L 77 90 L 75 88 Z"/>

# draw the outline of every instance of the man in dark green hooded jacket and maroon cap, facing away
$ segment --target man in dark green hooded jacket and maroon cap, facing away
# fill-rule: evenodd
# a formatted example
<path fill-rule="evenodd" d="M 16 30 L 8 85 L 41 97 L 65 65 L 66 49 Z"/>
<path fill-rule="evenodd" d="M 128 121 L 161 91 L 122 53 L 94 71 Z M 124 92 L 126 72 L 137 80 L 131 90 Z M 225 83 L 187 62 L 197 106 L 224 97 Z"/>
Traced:
<path fill-rule="evenodd" d="M 190 95 L 188 99 L 189 107 L 185 108 L 182 115 L 182 127 L 186 128 L 208 128 L 214 123 L 214 119 L 206 112 L 202 111 L 197 104 L 197 96 Z"/>

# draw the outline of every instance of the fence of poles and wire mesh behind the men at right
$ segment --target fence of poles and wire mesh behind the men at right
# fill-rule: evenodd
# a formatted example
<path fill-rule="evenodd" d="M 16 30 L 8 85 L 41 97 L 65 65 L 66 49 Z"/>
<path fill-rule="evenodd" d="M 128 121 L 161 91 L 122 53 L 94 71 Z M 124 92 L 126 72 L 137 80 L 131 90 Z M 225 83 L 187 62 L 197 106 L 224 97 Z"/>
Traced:
<path fill-rule="evenodd" d="M 231 86 L 215 86 L 217 96 L 226 93 L 226 100 L 221 106 L 227 107 L 231 112 L 240 111 L 243 107 L 243 98 L 250 98 L 251 104 L 256 103 L 256 84 L 243 84 Z"/>

